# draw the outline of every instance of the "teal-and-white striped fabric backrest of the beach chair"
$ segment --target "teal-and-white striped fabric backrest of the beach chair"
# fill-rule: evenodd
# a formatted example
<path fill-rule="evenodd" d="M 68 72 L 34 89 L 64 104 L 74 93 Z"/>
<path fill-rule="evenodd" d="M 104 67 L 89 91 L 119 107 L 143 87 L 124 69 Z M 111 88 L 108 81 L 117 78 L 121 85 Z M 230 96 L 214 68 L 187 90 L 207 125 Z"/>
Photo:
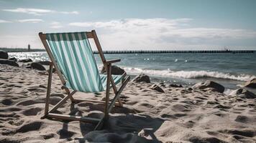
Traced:
<path fill-rule="evenodd" d="M 86 32 L 46 34 L 46 41 L 66 84 L 79 92 L 104 91 Z"/>

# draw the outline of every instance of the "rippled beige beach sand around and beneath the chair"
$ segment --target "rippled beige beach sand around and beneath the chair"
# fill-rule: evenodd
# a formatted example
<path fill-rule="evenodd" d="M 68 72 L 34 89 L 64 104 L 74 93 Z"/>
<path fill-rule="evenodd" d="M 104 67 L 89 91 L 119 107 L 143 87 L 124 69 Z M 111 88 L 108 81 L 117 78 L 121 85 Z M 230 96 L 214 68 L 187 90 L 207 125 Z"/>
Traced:
<path fill-rule="evenodd" d="M 52 77 L 50 107 L 65 95 Z M 129 82 L 124 107 L 114 107 L 104 129 L 95 124 L 40 119 L 47 72 L 0 65 L 0 142 L 256 142 L 256 99 L 188 87 L 149 89 Z M 104 99 L 104 92 L 75 97 Z M 103 104 L 70 101 L 58 113 L 100 117 Z"/>

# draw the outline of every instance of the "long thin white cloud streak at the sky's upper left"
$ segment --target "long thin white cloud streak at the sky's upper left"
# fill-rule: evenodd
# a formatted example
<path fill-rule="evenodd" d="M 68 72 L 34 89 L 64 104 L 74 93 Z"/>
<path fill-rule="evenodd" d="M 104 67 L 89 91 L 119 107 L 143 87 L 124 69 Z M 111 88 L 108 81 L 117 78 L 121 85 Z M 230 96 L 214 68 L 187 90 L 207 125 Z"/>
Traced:
<path fill-rule="evenodd" d="M 17 13 L 24 13 L 24 14 L 33 14 L 36 16 L 40 16 L 42 14 L 50 14 L 50 13 L 57 13 L 57 14 L 79 14 L 78 11 L 54 11 L 50 9 L 27 9 L 27 8 L 17 8 L 17 9 L 2 9 L 3 11 L 9 12 L 17 12 Z"/>

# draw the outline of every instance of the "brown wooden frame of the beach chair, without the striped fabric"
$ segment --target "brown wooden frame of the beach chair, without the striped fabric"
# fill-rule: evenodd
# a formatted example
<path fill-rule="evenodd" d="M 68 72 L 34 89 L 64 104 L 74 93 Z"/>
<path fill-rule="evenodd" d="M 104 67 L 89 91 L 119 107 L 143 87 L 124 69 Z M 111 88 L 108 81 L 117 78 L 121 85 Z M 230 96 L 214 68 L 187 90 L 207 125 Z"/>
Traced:
<path fill-rule="evenodd" d="M 116 63 L 118 61 L 121 61 L 120 59 L 114 59 L 114 60 L 109 60 L 106 61 L 104 53 L 101 49 L 101 44 L 99 43 L 99 39 L 96 35 L 96 31 L 86 31 L 86 35 L 88 39 L 93 39 L 96 47 L 99 51 L 99 55 L 101 56 L 101 61 L 104 64 L 104 68 L 106 69 L 106 74 L 107 74 L 107 79 L 106 79 L 106 98 L 105 101 L 96 101 L 96 100 L 88 100 L 88 99 L 74 99 L 73 95 L 76 93 L 75 90 L 70 92 L 70 89 L 65 87 L 65 79 L 63 77 L 63 74 L 61 74 L 60 69 L 58 68 L 58 65 L 52 55 L 52 52 L 50 51 L 50 47 L 47 44 L 46 41 L 46 34 L 42 34 L 42 32 L 39 33 L 40 39 L 42 41 L 42 44 L 45 46 L 45 50 L 47 51 L 48 56 L 50 57 L 51 63 L 50 63 L 50 71 L 49 71 L 49 77 L 48 77 L 48 82 L 47 82 L 47 94 L 45 98 L 45 114 L 41 119 L 44 119 L 45 117 L 50 117 L 50 118 L 55 118 L 55 119 L 65 119 L 65 120 L 71 120 L 71 121 L 82 121 L 82 122 L 92 122 L 92 123 L 98 123 L 96 125 L 95 129 L 101 129 L 104 120 L 108 119 L 109 117 L 109 112 L 111 112 L 111 109 L 116 106 L 122 107 L 122 101 L 119 97 L 121 92 L 123 91 L 124 87 L 127 85 L 129 82 L 130 77 L 127 76 L 126 73 L 124 73 L 123 80 L 122 80 L 122 86 L 119 87 L 119 89 L 116 88 L 116 85 L 114 84 L 114 80 L 111 77 L 111 64 Z M 49 100 L 50 100 L 50 89 L 51 89 L 51 84 L 52 84 L 52 69 L 53 66 L 55 67 L 55 70 L 57 71 L 58 76 L 60 77 L 60 81 L 63 84 L 62 89 L 65 89 L 65 92 L 68 94 L 65 96 L 58 104 L 55 104 L 52 109 L 49 110 Z M 111 84 L 111 86 L 110 86 Z M 112 99 L 111 102 L 109 102 L 109 90 L 112 88 L 114 90 L 114 98 Z M 71 102 L 103 102 L 104 103 L 104 116 L 101 117 L 101 119 L 96 119 L 96 118 L 91 118 L 91 117 L 80 117 L 80 116 L 73 116 L 73 115 L 65 115 L 65 114 L 55 114 L 52 112 L 55 112 L 56 109 L 58 109 L 61 105 L 65 104 L 65 102 L 70 99 Z M 117 103 L 116 103 L 117 101 Z"/>

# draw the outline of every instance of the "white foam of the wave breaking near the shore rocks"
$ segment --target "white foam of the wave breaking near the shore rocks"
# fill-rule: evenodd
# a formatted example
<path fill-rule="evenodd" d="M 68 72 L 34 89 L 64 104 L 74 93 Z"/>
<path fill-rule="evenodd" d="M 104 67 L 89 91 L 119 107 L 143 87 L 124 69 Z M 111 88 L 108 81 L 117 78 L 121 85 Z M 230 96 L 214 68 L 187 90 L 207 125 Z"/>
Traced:
<path fill-rule="evenodd" d="M 196 79 L 211 77 L 217 79 L 231 79 L 237 81 L 248 81 L 255 78 L 255 76 L 248 74 L 232 75 L 229 73 L 222 73 L 219 71 L 170 71 L 170 70 L 152 70 L 152 69 L 140 69 L 140 68 L 131 68 L 124 67 L 124 70 L 128 74 L 136 75 L 140 73 L 148 74 L 155 77 L 179 77 L 186 79 Z"/>

